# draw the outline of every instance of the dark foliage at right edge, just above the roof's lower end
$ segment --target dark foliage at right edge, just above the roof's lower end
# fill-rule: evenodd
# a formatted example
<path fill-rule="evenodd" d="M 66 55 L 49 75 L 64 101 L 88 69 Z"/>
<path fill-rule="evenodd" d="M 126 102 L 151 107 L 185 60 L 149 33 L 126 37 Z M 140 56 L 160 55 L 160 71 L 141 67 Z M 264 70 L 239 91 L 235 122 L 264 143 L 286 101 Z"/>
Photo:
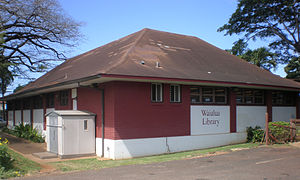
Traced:
<path fill-rule="evenodd" d="M 300 58 L 292 58 L 292 60 L 284 68 L 284 71 L 287 73 L 286 78 L 300 81 Z"/>

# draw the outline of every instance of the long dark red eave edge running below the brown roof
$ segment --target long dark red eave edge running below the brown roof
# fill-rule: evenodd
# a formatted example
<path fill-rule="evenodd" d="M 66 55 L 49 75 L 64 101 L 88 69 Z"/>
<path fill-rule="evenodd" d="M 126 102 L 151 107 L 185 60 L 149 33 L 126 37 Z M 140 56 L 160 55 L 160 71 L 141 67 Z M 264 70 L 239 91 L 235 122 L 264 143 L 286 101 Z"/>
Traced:
<path fill-rule="evenodd" d="M 72 81 L 57 83 L 51 86 L 41 88 L 28 89 L 20 93 L 8 95 L 4 100 L 13 100 L 23 97 L 34 96 L 43 93 L 60 91 L 64 89 L 72 89 L 80 86 L 89 86 L 94 83 L 104 83 L 109 81 L 132 81 L 132 82 L 161 82 L 161 83 L 176 83 L 184 85 L 205 85 L 205 86 L 224 86 L 234 88 L 257 88 L 269 90 L 286 90 L 286 91 L 300 91 L 300 87 L 287 87 L 287 86 L 274 86 L 262 85 L 254 83 L 241 83 L 241 82 L 221 82 L 221 81 L 208 81 L 208 80 L 194 80 L 194 79 L 179 79 L 179 78 L 162 78 L 162 77 L 143 77 L 143 76 L 127 76 L 127 75 L 113 75 L 113 74 L 98 74 L 95 76 L 85 77 Z"/>

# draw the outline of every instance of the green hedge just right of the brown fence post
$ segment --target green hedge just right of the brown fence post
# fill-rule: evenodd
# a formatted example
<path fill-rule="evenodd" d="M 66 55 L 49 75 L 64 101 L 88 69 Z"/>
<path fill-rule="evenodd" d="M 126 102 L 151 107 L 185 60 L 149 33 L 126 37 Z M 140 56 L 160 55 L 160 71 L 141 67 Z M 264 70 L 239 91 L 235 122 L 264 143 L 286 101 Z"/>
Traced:
<path fill-rule="evenodd" d="M 269 130 L 271 134 L 281 142 L 287 141 L 290 137 L 290 130 L 288 128 L 275 126 L 274 124 L 290 126 L 290 123 L 284 121 L 269 122 Z"/>

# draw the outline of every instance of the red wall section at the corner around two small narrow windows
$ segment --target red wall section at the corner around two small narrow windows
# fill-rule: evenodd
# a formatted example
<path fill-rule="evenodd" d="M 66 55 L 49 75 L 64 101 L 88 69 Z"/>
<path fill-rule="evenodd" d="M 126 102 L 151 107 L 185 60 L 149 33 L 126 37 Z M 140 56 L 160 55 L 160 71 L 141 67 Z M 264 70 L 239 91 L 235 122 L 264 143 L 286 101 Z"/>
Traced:
<path fill-rule="evenodd" d="M 114 82 L 112 85 L 114 124 L 105 127 L 115 128 L 113 139 L 190 135 L 188 86 L 181 88 L 181 103 L 170 103 L 168 84 L 164 85 L 163 102 L 152 103 L 151 83 Z M 105 108 L 106 113 L 109 107 Z"/>

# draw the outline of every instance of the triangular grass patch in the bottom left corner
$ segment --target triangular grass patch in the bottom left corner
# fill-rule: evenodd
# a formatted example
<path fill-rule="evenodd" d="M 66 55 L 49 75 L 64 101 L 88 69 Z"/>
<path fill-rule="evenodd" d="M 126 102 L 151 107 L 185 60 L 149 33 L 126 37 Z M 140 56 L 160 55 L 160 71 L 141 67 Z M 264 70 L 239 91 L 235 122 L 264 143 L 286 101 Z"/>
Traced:
<path fill-rule="evenodd" d="M 14 168 L 9 171 L 0 170 L 1 179 L 23 176 L 25 174 L 33 174 L 38 172 L 41 169 L 38 163 L 23 157 L 22 155 L 12 151 L 9 148 L 8 148 L 8 153 L 12 156 L 13 159 L 15 159 L 13 163 Z"/>

